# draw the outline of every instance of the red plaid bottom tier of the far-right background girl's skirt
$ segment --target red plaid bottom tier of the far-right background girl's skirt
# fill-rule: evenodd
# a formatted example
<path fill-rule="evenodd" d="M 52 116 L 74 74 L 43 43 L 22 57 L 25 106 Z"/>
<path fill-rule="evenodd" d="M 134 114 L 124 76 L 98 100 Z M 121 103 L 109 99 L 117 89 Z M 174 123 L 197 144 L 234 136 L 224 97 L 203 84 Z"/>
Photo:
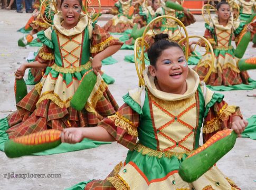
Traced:
<path fill-rule="evenodd" d="M 209 67 L 195 67 L 193 68 L 196 70 L 197 74 L 200 76 L 200 79 L 202 80 L 208 70 Z M 237 73 L 230 68 L 223 69 L 222 72 L 217 68 L 217 72 L 212 72 L 209 79 L 206 81 L 206 84 L 210 84 L 212 86 L 229 86 L 229 85 L 235 85 L 235 84 L 248 84 L 249 74 L 246 71 L 241 71 L 240 73 Z"/>

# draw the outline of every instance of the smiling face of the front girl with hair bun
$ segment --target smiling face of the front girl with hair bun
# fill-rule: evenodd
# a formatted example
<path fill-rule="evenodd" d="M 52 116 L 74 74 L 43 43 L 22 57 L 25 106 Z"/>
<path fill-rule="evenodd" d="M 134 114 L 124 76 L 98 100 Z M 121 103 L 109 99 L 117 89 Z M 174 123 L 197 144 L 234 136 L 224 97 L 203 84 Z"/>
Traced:
<path fill-rule="evenodd" d="M 160 90 L 172 93 L 186 83 L 188 66 L 181 48 L 170 47 L 162 52 L 156 66 L 149 66 L 150 74 L 156 78 Z"/>

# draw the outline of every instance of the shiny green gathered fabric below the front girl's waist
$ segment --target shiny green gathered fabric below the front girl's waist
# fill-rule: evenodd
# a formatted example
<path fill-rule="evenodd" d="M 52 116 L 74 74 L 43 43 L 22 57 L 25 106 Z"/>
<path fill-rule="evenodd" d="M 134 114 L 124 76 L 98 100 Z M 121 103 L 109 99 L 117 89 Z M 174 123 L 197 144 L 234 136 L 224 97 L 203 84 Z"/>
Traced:
<path fill-rule="evenodd" d="M 125 162 L 130 161 L 135 163 L 138 168 L 146 175 L 148 181 L 152 179 L 159 179 L 166 176 L 166 174 L 173 170 L 178 170 L 179 166 L 185 160 L 187 155 L 183 155 L 182 159 L 179 160 L 176 156 L 158 158 L 155 156 L 142 155 L 136 150 L 128 151 Z M 148 167 L 150 165 L 150 167 Z"/>

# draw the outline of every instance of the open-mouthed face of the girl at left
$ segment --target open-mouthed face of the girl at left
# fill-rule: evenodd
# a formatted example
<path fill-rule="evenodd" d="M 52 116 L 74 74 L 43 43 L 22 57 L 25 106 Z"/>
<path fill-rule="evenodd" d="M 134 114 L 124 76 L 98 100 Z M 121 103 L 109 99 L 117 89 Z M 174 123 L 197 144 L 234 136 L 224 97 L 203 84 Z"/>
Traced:
<path fill-rule="evenodd" d="M 78 0 L 64 0 L 61 4 L 61 11 L 65 22 L 64 27 L 67 26 L 71 29 L 77 25 L 81 13 L 81 5 Z"/>

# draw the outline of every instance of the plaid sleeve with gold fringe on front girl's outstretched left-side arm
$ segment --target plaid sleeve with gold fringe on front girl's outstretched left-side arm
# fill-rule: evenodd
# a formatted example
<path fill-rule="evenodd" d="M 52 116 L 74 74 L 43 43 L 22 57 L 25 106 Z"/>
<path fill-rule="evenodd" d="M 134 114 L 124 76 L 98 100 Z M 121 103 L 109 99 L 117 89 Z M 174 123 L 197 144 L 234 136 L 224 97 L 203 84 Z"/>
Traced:
<path fill-rule="evenodd" d="M 132 150 L 138 137 L 139 114 L 125 103 L 115 115 L 103 119 L 99 126 L 105 128 L 118 143 Z"/>

